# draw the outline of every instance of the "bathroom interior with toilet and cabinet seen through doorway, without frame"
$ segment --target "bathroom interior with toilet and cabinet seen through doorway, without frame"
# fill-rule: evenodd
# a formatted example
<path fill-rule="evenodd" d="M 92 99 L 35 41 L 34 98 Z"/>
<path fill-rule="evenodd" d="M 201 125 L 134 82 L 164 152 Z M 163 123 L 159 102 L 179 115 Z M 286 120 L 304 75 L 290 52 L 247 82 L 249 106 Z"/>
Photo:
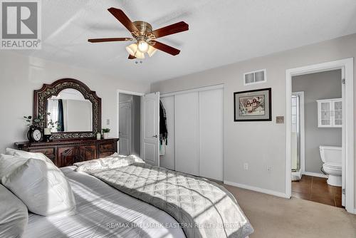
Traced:
<path fill-rule="evenodd" d="M 293 76 L 292 92 L 292 197 L 342 207 L 342 70 Z"/>

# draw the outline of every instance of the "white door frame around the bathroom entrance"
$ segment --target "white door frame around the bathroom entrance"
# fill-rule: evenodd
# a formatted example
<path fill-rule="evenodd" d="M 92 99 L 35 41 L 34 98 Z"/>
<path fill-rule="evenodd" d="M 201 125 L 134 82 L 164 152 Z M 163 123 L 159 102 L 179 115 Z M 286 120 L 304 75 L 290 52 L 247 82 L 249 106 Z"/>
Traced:
<path fill-rule="evenodd" d="M 345 58 L 338 61 L 318 63 L 298 68 L 286 70 L 286 197 L 291 196 L 291 95 L 292 77 L 308 73 L 318 73 L 335 69 L 345 69 L 345 95 L 343 100 L 343 111 L 345 117 L 342 118 L 342 159 L 345 160 L 345 209 L 347 212 L 355 213 L 354 200 L 354 59 Z"/>

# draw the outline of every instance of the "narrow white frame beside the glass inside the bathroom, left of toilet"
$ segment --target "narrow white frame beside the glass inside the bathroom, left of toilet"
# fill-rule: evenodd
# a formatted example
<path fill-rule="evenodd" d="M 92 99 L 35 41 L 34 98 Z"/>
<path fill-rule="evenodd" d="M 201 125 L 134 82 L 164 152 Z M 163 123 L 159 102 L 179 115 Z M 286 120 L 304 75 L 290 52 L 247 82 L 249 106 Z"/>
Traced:
<path fill-rule="evenodd" d="M 305 172 L 305 108 L 304 91 L 292 92 L 292 95 L 299 95 L 299 120 L 300 120 L 300 175 Z"/>

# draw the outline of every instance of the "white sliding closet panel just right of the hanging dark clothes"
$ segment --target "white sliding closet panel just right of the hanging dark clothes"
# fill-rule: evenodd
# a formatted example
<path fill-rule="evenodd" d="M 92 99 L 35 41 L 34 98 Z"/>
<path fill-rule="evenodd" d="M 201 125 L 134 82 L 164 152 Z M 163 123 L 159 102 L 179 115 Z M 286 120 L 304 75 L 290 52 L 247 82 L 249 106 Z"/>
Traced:
<path fill-rule="evenodd" d="M 175 170 L 199 175 L 198 93 L 175 95 Z"/>

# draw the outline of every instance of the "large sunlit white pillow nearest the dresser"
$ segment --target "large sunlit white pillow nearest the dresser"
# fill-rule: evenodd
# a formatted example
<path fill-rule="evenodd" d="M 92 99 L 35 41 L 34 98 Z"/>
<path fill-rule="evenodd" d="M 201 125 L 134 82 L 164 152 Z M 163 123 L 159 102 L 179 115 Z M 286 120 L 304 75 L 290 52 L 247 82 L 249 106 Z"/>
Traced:
<path fill-rule="evenodd" d="M 75 214 L 70 184 L 52 163 L 28 159 L 1 182 L 23 201 L 30 212 L 43 216 Z"/>

